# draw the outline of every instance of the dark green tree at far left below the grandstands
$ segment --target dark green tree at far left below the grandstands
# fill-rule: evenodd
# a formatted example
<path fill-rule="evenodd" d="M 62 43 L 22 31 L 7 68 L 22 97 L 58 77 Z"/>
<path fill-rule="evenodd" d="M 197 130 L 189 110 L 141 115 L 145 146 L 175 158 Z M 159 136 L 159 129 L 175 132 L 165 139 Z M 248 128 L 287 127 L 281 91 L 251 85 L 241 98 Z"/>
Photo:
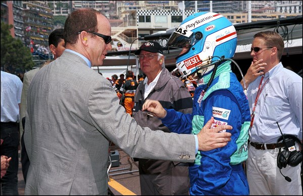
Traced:
<path fill-rule="evenodd" d="M 10 33 L 13 25 L 1 22 L 1 67 L 5 71 L 16 74 L 32 69 L 34 62 L 30 48 L 26 47 L 20 39 L 15 39 Z"/>

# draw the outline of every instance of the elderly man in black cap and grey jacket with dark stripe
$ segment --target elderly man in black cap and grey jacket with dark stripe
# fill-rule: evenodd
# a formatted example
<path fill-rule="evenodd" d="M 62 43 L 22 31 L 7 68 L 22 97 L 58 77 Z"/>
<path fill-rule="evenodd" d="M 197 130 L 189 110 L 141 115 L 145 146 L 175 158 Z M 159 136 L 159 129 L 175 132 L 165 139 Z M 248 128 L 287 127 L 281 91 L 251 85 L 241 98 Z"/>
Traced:
<path fill-rule="evenodd" d="M 140 126 L 170 132 L 161 119 L 142 111 L 146 99 L 158 100 L 164 108 L 183 113 L 192 112 L 191 96 L 182 81 L 165 68 L 162 46 L 158 42 L 143 43 L 138 55 L 140 68 L 146 75 L 136 90 L 133 118 Z M 155 143 L 156 144 L 156 143 Z M 190 187 L 187 163 L 139 159 L 142 195 L 188 195 Z"/>

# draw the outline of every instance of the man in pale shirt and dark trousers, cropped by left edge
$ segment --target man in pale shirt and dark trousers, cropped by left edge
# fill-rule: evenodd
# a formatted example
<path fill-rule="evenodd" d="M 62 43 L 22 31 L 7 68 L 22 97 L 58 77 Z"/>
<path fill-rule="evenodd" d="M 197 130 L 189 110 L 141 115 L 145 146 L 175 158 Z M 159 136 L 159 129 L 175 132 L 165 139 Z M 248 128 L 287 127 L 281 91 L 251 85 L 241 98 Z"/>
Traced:
<path fill-rule="evenodd" d="M 22 81 L 16 75 L 1 71 L 1 156 L 11 157 L 7 173 L 1 178 L 4 195 L 18 195 L 18 146 Z"/>

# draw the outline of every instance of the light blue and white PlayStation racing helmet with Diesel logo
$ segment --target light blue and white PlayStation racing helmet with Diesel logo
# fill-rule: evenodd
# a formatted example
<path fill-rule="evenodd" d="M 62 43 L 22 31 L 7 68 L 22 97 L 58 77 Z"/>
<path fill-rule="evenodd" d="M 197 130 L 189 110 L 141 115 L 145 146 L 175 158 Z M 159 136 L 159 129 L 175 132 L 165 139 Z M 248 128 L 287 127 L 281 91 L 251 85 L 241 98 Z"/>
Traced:
<path fill-rule="evenodd" d="M 185 78 L 197 72 L 209 73 L 223 56 L 232 58 L 237 33 L 232 23 L 221 14 L 198 12 L 175 28 L 167 45 L 182 48 L 176 57 L 174 71 L 179 71 L 180 78 Z"/>

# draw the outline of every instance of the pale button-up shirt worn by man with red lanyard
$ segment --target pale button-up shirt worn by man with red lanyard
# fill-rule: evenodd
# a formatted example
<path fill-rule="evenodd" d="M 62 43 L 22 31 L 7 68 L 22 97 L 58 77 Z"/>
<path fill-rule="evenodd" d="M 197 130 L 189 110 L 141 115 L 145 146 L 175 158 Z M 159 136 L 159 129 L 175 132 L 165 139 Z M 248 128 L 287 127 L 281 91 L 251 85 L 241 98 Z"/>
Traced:
<path fill-rule="evenodd" d="M 247 89 L 250 114 L 261 77 L 250 83 Z M 276 143 L 281 136 L 276 122 L 283 134 L 292 134 L 302 140 L 302 78 L 279 63 L 265 74 L 262 85 L 267 80 L 257 102 L 249 140 Z"/>

